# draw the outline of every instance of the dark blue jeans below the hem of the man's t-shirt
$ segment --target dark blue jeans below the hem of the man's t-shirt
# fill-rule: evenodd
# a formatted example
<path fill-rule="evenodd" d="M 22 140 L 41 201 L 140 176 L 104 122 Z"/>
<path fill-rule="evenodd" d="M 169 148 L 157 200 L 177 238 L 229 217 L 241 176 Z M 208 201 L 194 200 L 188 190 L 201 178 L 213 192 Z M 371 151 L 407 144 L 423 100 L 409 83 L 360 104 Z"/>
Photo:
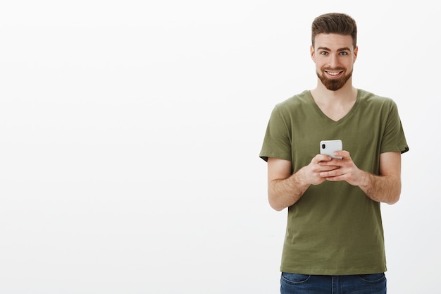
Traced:
<path fill-rule="evenodd" d="M 386 276 L 310 276 L 282 273 L 280 294 L 386 294 Z"/>

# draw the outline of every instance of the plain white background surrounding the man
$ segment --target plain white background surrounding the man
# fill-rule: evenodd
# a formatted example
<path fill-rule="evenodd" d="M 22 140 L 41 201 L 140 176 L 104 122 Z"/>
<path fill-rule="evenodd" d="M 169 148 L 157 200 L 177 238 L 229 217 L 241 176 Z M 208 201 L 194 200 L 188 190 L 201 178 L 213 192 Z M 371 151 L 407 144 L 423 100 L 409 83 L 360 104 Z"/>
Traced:
<path fill-rule="evenodd" d="M 384 204 L 388 293 L 437 293 L 435 1 L 1 1 L 0 293 L 278 293 L 286 209 L 259 159 L 316 85 L 310 26 L 359 25 L 354 85 L 410 151 Z"/>

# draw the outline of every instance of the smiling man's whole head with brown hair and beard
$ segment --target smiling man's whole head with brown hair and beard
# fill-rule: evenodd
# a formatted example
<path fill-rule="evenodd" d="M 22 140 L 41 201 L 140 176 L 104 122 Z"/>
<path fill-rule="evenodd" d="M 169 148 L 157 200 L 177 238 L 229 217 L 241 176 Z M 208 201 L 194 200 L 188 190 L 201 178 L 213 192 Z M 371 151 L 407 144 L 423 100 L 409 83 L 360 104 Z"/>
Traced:
<path fill-rule="evenodd" d="M 350 16 L 327 13 L 313 21 L 311 58 L 328 90 L 340 90 L 347 84 L 357 54 L 356 23 Z"/>

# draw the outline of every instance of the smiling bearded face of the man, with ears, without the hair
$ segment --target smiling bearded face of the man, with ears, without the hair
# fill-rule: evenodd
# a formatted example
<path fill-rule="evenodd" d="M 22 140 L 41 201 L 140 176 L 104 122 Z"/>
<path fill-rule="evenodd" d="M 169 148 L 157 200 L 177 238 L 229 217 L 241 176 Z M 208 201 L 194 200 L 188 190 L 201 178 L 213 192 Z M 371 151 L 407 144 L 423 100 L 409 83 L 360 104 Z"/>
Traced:
<path fill-rule="evenodd" d="M 311 57 L 318 78 L 328 90 L 339 90 L 351 78 L 357 52 L 350 35 L 316 35 Z"/>

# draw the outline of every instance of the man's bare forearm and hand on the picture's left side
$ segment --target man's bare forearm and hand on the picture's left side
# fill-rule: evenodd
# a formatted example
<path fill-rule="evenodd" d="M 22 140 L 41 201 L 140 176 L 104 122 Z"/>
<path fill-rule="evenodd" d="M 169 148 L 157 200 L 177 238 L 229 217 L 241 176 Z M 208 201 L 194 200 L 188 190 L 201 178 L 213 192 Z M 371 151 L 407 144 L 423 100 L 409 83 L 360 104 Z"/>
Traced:
<path fill-rule="evenodd" d="M 310 185 L 323 183 L 320 176 L 323 171 L 330 171 L 336 166 L 320 166 L 321 161 L 330 161 L 331 157 L 318 154 L 311 163 L 295 173 L 291 173 L 291 161 L 268 158 L 268 201 L 275 210 L 282 210 L 297 202 Z"/>

